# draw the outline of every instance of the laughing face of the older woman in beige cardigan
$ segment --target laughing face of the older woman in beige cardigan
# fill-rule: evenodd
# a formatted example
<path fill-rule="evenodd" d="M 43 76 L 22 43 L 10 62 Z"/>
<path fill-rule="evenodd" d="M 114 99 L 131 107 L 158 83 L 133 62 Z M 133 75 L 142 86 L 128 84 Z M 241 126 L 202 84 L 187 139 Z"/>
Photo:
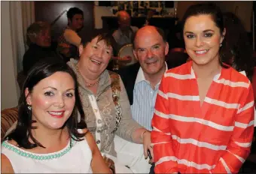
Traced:
<path fill-rule="evenodd" d="M 105 40 L 98 42 L 98 37 L 93 38 L 84 49 L 80 49 L 82 68 L 88 72 L 88 75 L 99 77 L 108 66 L 112 55 L 112 47 L 107 46 Z"/>

